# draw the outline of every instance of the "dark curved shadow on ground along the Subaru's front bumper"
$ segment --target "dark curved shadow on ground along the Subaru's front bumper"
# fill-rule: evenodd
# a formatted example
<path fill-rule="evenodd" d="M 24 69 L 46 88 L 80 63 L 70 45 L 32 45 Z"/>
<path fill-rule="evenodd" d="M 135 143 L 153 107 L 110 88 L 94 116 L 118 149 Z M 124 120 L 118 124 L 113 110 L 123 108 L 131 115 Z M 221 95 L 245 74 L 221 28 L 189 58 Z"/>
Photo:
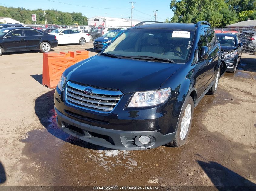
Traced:
<path fill-rule="evenodd" d="M 67 133 L 63 132 L 61 129 L 58 128 L 56 124 L 56 114 L 54 111 L 54 92 L 55 89 L 48 91 L 47 93 L 39 96 L 35 100 L 35 114 L 37 115 L 40 123 L 47 129 L 47 131 L 54 135 L 55 137 L 65 142 L 71 143 L 73 145 L 93 150 L 111 150 L 109 148 L 101 147 L 98 145 L 82 141 L 78 138 L 68 135 Z"/>

